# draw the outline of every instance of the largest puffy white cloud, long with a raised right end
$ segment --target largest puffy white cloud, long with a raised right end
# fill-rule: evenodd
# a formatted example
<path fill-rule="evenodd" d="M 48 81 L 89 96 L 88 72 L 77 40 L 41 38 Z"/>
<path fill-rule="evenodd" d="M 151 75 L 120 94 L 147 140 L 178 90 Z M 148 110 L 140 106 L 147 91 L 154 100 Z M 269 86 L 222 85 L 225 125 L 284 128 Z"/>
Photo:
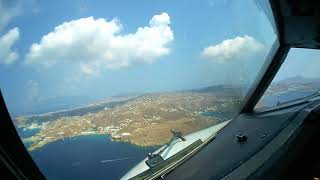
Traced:
<path fill-rule="evenodd" d="M 167 44 L 174 37 L 169 25 L 167 13 L 153 16 L 149 26 L 129 34 L 121 33 L 123 26 L 117 19 L 88 17 L 64 22 L 32 44 L 26 62 L 45 66 L 77 62 L 86 75 L 152 63 L 170 53 Z"/>

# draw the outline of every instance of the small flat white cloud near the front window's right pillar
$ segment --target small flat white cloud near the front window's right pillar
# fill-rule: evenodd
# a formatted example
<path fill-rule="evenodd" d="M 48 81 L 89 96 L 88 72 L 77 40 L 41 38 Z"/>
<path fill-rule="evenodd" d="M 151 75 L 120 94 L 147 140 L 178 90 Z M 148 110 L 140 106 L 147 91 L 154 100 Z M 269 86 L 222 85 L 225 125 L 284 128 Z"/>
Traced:
<path fill-rule="evenodd" d="M 202 56 L 206 59 L 224 63 L 248 59 L 263 53 L 265 46 L 251 36 L 238 36 L 226 39 L 219 44 L 205 47 Z"/>

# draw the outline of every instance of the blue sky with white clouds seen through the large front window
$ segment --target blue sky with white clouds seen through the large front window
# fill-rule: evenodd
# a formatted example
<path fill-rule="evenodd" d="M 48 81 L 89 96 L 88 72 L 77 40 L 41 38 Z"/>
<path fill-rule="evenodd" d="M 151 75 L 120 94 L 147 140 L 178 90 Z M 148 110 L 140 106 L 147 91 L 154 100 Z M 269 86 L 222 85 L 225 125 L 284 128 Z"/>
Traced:
<path fill-rule="evenodd" d="M 277 46 L 268 8 L 237 0 L 0 0 L 1 92 L 10 112 L 22 112 L 69 96 L 249 86 Z"/>

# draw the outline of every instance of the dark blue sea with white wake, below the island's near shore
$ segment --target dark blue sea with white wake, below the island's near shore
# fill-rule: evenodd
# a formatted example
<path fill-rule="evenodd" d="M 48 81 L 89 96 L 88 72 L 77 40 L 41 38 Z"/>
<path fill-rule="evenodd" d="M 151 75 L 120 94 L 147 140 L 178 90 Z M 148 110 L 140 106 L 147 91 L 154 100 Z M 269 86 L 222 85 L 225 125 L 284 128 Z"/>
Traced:
<path fill-rule="evenodd" d="M 49 143 L 31 156 L 49 180 L 119 179 L 155 149 L 89 135 Z"/>

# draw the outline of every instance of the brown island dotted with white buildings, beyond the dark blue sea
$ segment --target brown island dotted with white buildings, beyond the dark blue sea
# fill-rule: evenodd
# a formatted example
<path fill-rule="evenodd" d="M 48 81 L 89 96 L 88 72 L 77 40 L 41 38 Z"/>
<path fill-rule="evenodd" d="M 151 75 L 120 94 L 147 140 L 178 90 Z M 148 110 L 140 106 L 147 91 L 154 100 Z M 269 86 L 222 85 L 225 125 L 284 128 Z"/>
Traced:
<path fill-rule="evenodd" d="M 239 92 L 233 87 L 217 86 L 146 93 L 71 110 L 19 116 L 14 123 L 19 128 L 39 128 L 35 135 L 22 139 L 31 143 L 29 151 L 90 134 L 108 134 L 113 141 L 155 146 L 169 141 L 171 129 L 185 135 L 229 120 L 240 105 Z"/>

